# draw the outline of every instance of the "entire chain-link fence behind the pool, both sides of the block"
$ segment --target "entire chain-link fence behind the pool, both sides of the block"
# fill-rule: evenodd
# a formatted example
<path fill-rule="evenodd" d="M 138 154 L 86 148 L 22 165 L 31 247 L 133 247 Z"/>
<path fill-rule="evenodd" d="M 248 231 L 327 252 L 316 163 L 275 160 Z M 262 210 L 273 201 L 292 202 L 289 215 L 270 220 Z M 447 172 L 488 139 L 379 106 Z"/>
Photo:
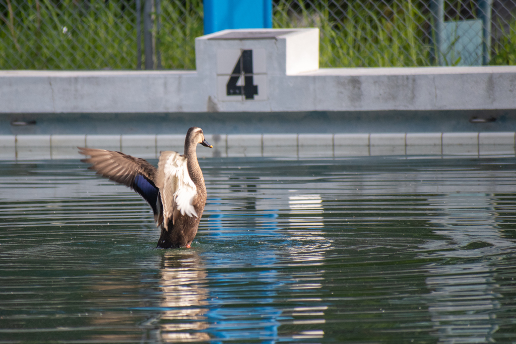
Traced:
<path fill-rule="evenodd" d="M 516 64 L 516 0 L 274 0 L 321 67 Z M 201 0 L 0 0 L 0 69 L 195 69 Z M 146 58 L 149 57 L 149 58 Z"/>

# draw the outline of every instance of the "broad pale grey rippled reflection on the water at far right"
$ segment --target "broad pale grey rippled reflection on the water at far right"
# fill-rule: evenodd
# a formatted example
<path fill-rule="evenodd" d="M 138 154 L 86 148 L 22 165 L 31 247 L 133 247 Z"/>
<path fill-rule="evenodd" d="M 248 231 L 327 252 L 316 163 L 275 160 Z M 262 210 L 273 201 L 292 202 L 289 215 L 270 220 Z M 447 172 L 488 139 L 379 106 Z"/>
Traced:
<path fill-rule="evenodd" d="M 502 295 L 496 293 L 490 256 L 513 247 L 514 242 L 500 232 L 490 194 L 449 194 L 431 202 L 442 209 L 439 220 L 431 222 L 442 227 L 434 233 L 443 240 L 424 245 L 436 251 L 426 258 L 440 257 L 447 262 L 428 265 L 426 284 L 432 290 L 428 309 L 434 334 L 442 343 L 494 341 L 492 335 L 498 329 L 494 310 L 499 308 Z M 468 260 L 463 263 L 464 259 Z"/>

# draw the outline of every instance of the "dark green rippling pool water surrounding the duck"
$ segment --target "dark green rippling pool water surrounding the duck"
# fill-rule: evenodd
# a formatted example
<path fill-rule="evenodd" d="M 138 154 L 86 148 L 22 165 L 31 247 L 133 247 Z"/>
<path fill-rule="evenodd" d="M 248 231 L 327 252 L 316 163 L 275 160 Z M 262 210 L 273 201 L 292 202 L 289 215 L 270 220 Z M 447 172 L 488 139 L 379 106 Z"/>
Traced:
<path fill-rule="evenodd" d="M 0 343 L 516 341 L 514 158 L 200 165 L 192 248 L 161 250 L 86 165 L 0 162 Z"/>

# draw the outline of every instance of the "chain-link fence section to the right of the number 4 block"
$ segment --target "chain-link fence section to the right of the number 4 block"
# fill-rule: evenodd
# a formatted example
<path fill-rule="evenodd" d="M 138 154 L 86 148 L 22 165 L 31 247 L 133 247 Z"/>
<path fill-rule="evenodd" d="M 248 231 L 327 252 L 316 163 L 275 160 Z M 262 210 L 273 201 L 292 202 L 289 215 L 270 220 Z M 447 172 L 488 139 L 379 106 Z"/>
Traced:
<path fill-rule="evenodd" d="M 322 67 L 516 62 L 515 0 L 279 0 L 273 20 L 319 27 Z"/>

